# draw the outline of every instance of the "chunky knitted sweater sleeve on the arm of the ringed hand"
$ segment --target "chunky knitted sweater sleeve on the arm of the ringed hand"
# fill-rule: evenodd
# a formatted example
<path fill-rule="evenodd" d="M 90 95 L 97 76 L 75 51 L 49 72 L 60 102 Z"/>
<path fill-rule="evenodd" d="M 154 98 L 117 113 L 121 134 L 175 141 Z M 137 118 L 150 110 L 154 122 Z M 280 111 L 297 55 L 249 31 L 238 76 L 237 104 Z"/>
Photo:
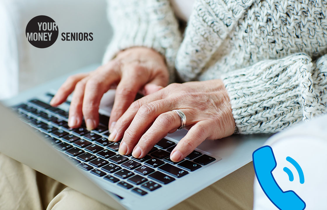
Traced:
<path fill-rule="evenodd" d="M 222 77 L 236 132 L 275 133 L 327 113 L 327 55 L 265 60 Z"/>

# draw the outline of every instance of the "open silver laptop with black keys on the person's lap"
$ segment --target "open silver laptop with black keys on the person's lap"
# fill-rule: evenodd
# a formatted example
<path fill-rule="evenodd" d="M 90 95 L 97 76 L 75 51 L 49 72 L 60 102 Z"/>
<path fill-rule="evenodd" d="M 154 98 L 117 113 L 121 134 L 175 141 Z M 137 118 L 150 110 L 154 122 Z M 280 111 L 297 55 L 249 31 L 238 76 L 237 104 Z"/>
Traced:
<path fill-rule="evenodd" d="M 169 209 L 252 160 L 270 135 L 207 140 L 179 163 L 170 152 L 186 130 L 168 134 L 142 159 L 120 155 L 107 140 L 114 90 L 101 100 L 91 132 L 67 125 L 70 98 L 49 102 L 65 79 L 88 66 L 26 90 L 0 104 L 0 152 L 114 209 Z"/>

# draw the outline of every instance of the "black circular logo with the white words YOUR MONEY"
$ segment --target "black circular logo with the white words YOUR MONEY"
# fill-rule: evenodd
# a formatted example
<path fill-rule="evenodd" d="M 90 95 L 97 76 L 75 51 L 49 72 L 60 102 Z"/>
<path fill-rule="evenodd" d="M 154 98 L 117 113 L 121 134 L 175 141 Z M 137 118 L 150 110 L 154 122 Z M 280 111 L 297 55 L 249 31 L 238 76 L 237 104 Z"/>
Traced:
<path fill-rule="evenodd" d="M 26 38 L 34 47 L 47 48 L 58 38 L 58 25 L 45 15 L 32 18 L 26 26 Z"/>

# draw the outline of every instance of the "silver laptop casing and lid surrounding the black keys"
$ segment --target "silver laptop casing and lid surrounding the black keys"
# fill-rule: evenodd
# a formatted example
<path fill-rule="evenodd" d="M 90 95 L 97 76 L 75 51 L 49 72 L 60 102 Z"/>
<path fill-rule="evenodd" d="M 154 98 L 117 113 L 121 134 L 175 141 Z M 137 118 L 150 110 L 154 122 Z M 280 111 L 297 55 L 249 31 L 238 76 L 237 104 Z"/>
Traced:
<path fill-rule="evenodd" d="M 96 67 L 97 65 L 89 66 L 70 74 L 88 72 L 94 70 Z M 3 101 L 2 104 L 0 104 L 0 152 L 114 209 L 147 210 L 171 208 L 177 203 L 185 200 L 203 188 L 215 183 L 219 179 L 249 163 L 252 160 L 252 152 L 263 145 L 263 143 L 269 137 L 269 135 L 233 135 L 220 140 L 204 141 L 196 149 L 196 151 L 200 153 L 199 156 L 190 160 L 185 159 L 185 161 L 189 161 L 188 163 L 191 161 L 196 168 L 200 167 L 194 171 L 182 168 L 178 164 L 170 164 L 166 160 L 161 159 L 164 164 L 170 164 L 173 166 L 166 165 L 168 168 L 171 167 L 173 169 L 178 169 L 177 172 L 176 170 L 174 171 L 173 175 L 172 173 L 169 173 L 169 171 L 167 172 L 163 170 L 163 167 L 150 167 L 149 165 L 146 165 L 146 161 L 141 162 L 141 165 L 137 168 L 130 170 L 129 168 L 126 168 L 128 167 L 126 166 L 128 164 L 122 166 L 122 164 L 112 162 L 110 158 L 104 157 L 102 159 L 105 159 L 105 161 L 108 162 L 106 165 L 114 164 L 119 166 L 121 169 L 111 173 L 109 171 L 102 170 L 104 166 L 101 164 L 101 166 L 97 168 L 96 165 L 90 165 L 88 162 L 79 160 L 79 162 L 87 164 L 92 168 L 92 170 L 84 170 L 82 166 L 78 166 L 81 163 L 78 163 L 77 165 L 76 162 L 73 163 L 71 161 L 72 158 L 78 160 L 77 156 L 74 157 L 71 154 L 68 154 L 68 150 L 58 150 L 55 147 L 55 143 L 52 142 L 54 145 L 49 143 L 49 140 L 43 133 L 44 130 L 26 124 L 18 118 L 18 115 L 13 109 L 8 108 L 20 104 L 27 104 L 45 113 L 50 113 L 58 119 L 65 120 L 65 118 L 61 117 L 60 115 L 57 115 L 51 111 L 48 112 L 48 110 L 38 107 L 29 101 L 31 99 L 38 99 L 45 103 L 49 103 L 51 94 L 55 93 L 56 89 L 60 87 L 60 85 L 70 74 L 61 76 L 58 79 L 47 82 L 46 84 L 27 90 L 12 99 Z M 113 97 L 113 90 L 110 90 L 105 94 L 101 100 L 99 113 L 109 116 L 111 106 L 113 104 Z M 68 111 L 68 107 L 68 104 L 59 106 L 59 108 L 64 111 Z M 74 134 L 78 136 L 73 131 L 65 130 L 60 126 L 55 126 L 52 124 L 52 122 L 44 121 L 43 118 L 34 115 L 33 113 L 25 113 L 23 111 L 23 113 L 21 112 L 21 115 L 22 114 L 27 114 L 30 117 L 36 118 L 36 120 L 43 121 L 42 123 L 52 125 L 55 127 L 55 129 L 64 130 L 69 135 Z M 36 130 L 41 132 L 36 132 Z M 173 134 L 169 134 L 167 137 L 165 137 L 165 139 L 172 144 L 176 144 L 186 134 L 186 132 L 186 130 L 177 131 Z M 100 135 L 101 137 L 106 137 L 103 135 L 105 132 L 96 134 Z M 51 132 L 49 133 L 49 136 L 53 137 Z M 80 139 L 84 139 L 83 136 L 78 137 Z M 56 137 L 55 139 L 60 140 L 60 142 L 67 143 L 63 137 Z M 98 144 L 96 141 L 92 141 L 91 143 L 92 145 L 94 144 L 101 146 L 104 150 L 108 149 L 106 146 Z M 80 147 L 79 145 L 70 142 L 67 144 L 71 145 L 72 148 L 77 148 L 83 150 L 83 152 L 87 152 L 85 151 L 86 147 Z M 159 150 L 162 148 L 156 149 Z M 167 149 L 162 150 L 166 151 Z M 112 152 L 111 149 L 108 150 Z M 91 154 L 94 154 L 96 158 L 98 158 L 99 155 L 97 155 L 97 153 L 98 152 Z M 214 159 L 214 161 L 206 165 L 201 165 L 198 163 L 201 162 L 200 159 L 196 159 L 202 155 L 209 155 Z M 130 160 L 135 163 L 135 160 L 133 161 L 131 156 L 124 157 L 124 159 L 125 158 L 127 158 L 127 160 L 124 160 L 124 163 L 128 163 Z M 151 156 L 151 158 L 153 157 Z M 149 160 L 151 160 L 151 158 Z M 162 177 L 163 182 L 166 181 L 165 178 L 173 181 L 164 184 L 160 182 L 162 180 L 158 181 L 158 178 L 156 179 L 155 176 L 150 177 L 151 174 L 144 175 L 142 172 L 140 172 L 142 170 L 136 171 L 144 166 L 154 170 L 153 173 L 165 175 L 166 177 Z M 124 175 L 126 174 L 122 175 L 122 173 L 117 173 L 120 170 L 132 172 L 132 175 L 125 178 Z M 92 173 L 91 171 L 94 172 Z M 102 173 L 96 174 L 96 171 L 100 171 Z M 103 173 L 105 173 L 105 175 L 103 175 Z M 179 174 L 181 174 L 181 176 Z M 141 176 L 145 178 L 144 180 L 146 181 L 142 180 L 144 182 L 141 183 L 131 182 L 129 179 L 136 175 L 138 175 L 138 177 Z M 107 179 L 104 177 L 107 177 Z M 114 177 L 119 181 L 113 183 L 108 177 Z M 124 186 L 124 184 L 118 184 L 121 182 L 127 183 L 128 185 Z M 147 183 L 150 184 L 144 186 Z M 130 188 L 127 189 L 126 187 Z M 136 189 L 140 189 L 140 191 L 137 191 Z M 144 194 L 144 192 L 146 194 L 141 195 Z"/>

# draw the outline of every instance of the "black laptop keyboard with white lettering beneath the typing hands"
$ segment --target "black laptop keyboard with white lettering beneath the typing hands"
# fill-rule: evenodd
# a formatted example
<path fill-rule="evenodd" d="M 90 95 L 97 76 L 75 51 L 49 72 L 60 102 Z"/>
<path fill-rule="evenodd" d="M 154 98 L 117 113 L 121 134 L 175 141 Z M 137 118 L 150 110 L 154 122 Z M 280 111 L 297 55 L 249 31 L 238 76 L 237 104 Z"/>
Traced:
<path fill-rule="evenodd" d="M 195 150 L 184 160 L 172 162 L 169 156 L 176 144 L 165 138 L 144 158 L 120 155 L 117 152 L 120 141 L 108 140 L 108 116 L 100 114 L 99 126 L 88 131 L 84 123 L 80 128 L 71 129 L 67 123 L 68 112 L 38 99 L 13 108 L 22 121 L 43 133 L 48 142 L 78 168 L 140 196 L 173 183 L 216 160 Z"/>

